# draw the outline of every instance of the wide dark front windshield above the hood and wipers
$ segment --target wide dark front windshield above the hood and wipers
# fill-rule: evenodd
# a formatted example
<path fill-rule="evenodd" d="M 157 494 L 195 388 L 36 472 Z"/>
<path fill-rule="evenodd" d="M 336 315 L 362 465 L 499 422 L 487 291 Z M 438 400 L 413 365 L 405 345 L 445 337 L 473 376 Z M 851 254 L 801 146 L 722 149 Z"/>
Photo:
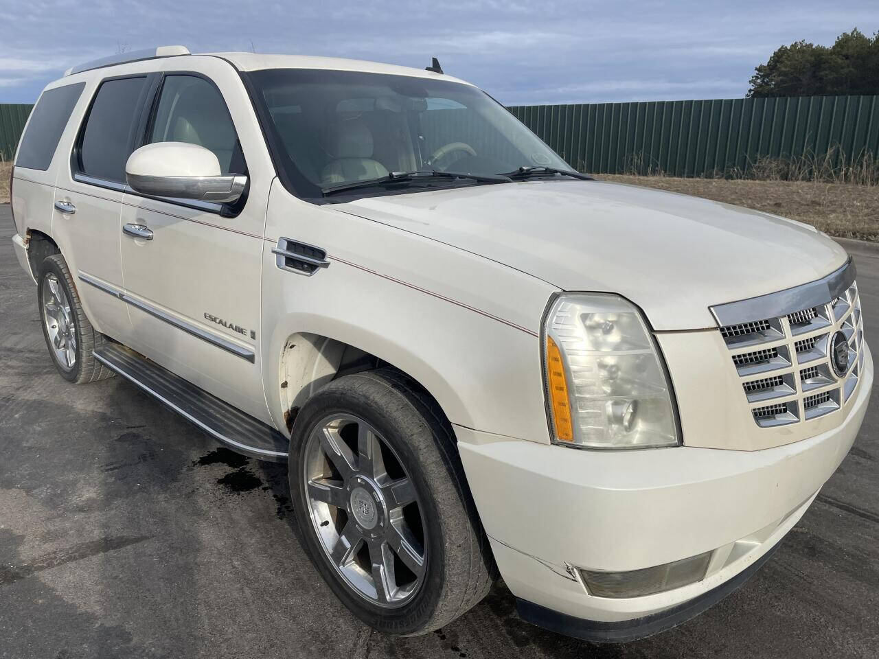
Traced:
<path fill-rule="evenodd" d="M 250 79 L 281 178 L 301 197 L 391 172 L 491 177 L 519 167 L 571 169 L 469 84 L 316 69 L 265 69 Z M 418 185 L 450 184 L 435 177 Z"/>

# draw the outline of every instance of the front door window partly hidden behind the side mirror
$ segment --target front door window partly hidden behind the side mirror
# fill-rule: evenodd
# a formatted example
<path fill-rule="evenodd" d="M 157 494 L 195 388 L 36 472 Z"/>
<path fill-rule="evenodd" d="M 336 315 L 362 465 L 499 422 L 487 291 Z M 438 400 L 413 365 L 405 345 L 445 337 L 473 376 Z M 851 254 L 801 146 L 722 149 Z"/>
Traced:
<path fill-rule="evenodd" d="M 184 141 L 207 148 L 224 176 L 244 174 L 246 166 L 235 125 L 220 91 L 197 76 L 167 76 L 156 108 L 149 143 Z"/>

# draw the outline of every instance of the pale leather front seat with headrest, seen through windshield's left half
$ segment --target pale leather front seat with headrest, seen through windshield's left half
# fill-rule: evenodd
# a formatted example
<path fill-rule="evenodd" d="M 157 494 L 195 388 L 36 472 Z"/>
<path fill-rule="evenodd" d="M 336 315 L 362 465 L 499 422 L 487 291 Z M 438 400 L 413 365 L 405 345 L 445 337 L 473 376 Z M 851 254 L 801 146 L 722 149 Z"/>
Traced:
<path fill-rule="evenodd" d="M 387 168 L 373 159 L 373 134 L 362 119 L 347 119 L 332 124 L 324 134 L 323 148 L 333 157 L 321 172 L 323 185 L 365 181 L 388 175 Z"/>

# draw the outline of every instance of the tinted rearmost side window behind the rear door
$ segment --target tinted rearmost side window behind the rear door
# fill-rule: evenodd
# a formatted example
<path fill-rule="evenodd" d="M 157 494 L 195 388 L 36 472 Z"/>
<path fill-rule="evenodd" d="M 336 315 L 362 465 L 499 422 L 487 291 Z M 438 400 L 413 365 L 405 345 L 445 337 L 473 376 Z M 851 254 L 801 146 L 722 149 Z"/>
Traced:
<path fill-rule="evenodd" d="M 67 84 L 42 93 L 21 138 L 16 167 L 31 170 L 49 168 L 61 134 L 70 119 L 70 112 L 73 112 L 73 106 L 84 87 L 85 83 Z"/>

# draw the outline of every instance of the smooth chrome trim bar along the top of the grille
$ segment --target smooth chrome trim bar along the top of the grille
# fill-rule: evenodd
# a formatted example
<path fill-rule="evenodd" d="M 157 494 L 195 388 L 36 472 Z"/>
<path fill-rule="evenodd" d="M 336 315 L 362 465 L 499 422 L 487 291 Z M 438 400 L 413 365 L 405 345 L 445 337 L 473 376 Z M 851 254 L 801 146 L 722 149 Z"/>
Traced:
<path fill-rule="evenodd" d="M 826 304 L 839 297 L 849 286 L 852 286 L 855 274 L 854 261 L 852 257 L 848 257 L 845 265 L 822 279 L 748 300 L 717 304 L 709 307 L 708 310 L 714 315 L 718 327 L 793 314 L 804 308 Z"/>

